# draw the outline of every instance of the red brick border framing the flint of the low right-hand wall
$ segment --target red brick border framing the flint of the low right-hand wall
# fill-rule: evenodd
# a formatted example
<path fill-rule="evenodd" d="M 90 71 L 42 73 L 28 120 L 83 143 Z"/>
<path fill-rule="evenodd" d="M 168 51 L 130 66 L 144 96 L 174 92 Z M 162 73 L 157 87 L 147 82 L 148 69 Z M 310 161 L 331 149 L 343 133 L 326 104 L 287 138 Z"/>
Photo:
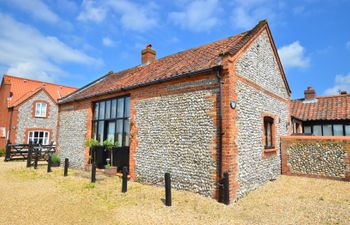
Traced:
<path fill-rule="evenodd" d="M 293 143 L 305 143 L 305 142 L 334 143 L 334 144 L 343 145 L 345 152 L 346 152 L 345 178 L 321 176 L 321 175 L 313 175 L 313 174 L 293 173 L 291 171 L 290 165 L 288 164 L 288 160 L 289 160 L 288 148 Z M 281 160 L 282 160 L 282 162 L 281 162 L 282 168 L 281 169 L 282 169 L 283 175 L 350 181 L 350 137 L 343 137 L 343 136 L 327 136 L 327 137 L 326 136 L 284 136 L 284 137 L 281 137 Z"/>

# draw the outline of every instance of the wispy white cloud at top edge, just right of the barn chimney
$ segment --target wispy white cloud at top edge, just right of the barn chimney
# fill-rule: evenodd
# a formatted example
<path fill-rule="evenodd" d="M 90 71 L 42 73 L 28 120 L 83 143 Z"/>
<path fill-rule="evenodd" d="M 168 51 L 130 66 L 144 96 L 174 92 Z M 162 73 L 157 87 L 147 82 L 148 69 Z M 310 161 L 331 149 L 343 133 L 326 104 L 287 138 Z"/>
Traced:
<path fill-rule="evenodd" d="M 207 31 L 220 23 L 218 0 L 196 0 L 185 5 L 182 11 L 169 13 L 169 19 L 191 31 Z"/>

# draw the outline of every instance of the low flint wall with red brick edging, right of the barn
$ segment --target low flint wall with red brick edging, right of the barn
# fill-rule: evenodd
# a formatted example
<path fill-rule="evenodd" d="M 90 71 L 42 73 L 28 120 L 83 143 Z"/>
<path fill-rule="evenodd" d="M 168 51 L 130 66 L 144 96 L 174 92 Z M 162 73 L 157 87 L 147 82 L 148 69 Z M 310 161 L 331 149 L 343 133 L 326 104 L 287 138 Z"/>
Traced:
<path fill-rule="evenodd" d="M 350 137 L 286 136 L 282 174 L 350 181 Z"/>

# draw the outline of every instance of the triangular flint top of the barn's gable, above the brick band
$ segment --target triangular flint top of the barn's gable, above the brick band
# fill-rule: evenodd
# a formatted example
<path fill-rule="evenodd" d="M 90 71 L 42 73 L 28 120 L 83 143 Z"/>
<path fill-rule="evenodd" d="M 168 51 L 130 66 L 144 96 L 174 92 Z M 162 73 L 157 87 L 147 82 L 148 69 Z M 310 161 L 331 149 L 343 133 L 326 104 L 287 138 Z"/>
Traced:
<path fill-rule="evenodd" d="M 280 97 L 289 98 L 266 31 L 239 58 L 236 73 Z"/>

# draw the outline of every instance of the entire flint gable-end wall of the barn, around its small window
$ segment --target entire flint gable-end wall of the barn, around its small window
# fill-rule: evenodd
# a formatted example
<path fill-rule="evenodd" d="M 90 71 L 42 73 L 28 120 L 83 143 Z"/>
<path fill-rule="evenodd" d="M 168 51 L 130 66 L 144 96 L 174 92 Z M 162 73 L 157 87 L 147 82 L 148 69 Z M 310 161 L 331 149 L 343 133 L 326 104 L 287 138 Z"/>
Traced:
<path fill-rule="evenodd" d="M 266 31 L 247 48 L 237 60 L 235 68 L 237 76 L 252 82 L 248 84 L 238 80 L 235 87 L 235 144 L 238 147 L 236 197 L 239 199 L 281 173 L 279 137 L 288 134 L 289 95 Z M 266 114 L 275 117 L 276 126 L 276 152 L 268 157 L 263 155 L 263 115 Z"/>

